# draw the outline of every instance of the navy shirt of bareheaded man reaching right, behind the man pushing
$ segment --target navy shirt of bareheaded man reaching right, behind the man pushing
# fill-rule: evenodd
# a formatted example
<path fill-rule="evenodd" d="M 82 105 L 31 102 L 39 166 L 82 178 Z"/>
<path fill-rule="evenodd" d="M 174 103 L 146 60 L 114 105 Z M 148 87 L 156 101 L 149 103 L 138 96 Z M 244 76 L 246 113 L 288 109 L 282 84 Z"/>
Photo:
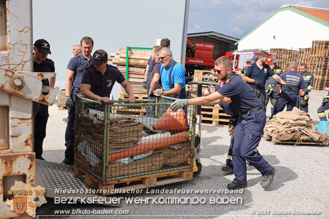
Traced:
<path fill-rule="evenodd" d="M 260 80 L 262 83 L 260 85 L 255 85 L 254 83 L 248 83 L 251 88 L 265 89 L 265 82 L 268 78 L 274 75 L 274 71 L 270 68 L 269 65 L 265 64 L 262 69 L 260 69 L 256 62 L 251 64 L 247 68 L 244 76 L 247 76 L 251 79 Z"/>

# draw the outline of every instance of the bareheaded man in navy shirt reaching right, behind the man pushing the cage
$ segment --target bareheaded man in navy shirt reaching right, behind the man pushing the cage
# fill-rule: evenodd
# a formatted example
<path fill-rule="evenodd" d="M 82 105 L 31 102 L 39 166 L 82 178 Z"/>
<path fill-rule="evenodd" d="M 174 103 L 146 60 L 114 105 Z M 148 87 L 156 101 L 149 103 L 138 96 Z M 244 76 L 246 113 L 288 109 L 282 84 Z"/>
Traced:
<path fill-rule="evenodd" d="M 266 51 L 260 51 L 258 54 L 258 60 L 251 64 L 244 74 L 244 81 L 248 83 L 250 88 L 254 91 L 262 106 L 265 109 L 265 82 L 269 77 L 273 77 L 277 82 L 285 85 L 285 82 L 274 73 L 274 71 L 266 64 L 269 58 L 269 53 Z"/>

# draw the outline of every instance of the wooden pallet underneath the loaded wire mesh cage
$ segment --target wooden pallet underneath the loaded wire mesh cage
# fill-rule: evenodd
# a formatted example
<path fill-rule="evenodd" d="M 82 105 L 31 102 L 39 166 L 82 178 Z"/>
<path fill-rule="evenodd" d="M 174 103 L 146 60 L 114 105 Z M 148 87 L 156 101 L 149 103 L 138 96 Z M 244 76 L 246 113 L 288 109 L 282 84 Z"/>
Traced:
<path fill-rule="evenodd" d="M 182 170 L 181 172 L 179 170 L 176 170 L 176 171 L 169 171 L 164 173 L 124 178 L 121 181 L 113 180 L 109 182 L 101 182 L 98 178 L 96 178 L 94 175 L 84 170 L 77 163 L 74 164 L 74 174 L 77 176 L 84 175 L 85 182 L 89 186 L 98 185 L 98 189 L 103 191 L 101 192 L 101 195 L 110 195 L 110 194 L 122 193 L 124 191 L 132 191 L 132 190 L 149 188 L 153 186 L 166 185 L 166 184 L 190 180 L 193 178 L 193 170 L 192 168 L 189 168 Z M 172 176 L 172 177 L 168 178 L 168 176 Z M 129 185 L 131 182 L 138 182 L 138 181 L 140 181 L 141 183 L 140 184 L 135 183 L 134 185 Z M 125 184 L 126 186 L 123 186 Z"/>

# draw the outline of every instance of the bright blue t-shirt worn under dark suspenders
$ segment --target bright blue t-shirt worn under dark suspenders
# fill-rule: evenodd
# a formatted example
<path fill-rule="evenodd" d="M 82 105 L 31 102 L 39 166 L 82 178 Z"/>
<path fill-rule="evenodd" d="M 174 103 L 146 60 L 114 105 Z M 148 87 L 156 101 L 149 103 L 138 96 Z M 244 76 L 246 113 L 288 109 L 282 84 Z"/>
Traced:
<path fill-rule="evenodd" d="M 185 71 L 183 68 L 183 65 L 180 63 L 176 63 L 173 67 L 174 63 L 176 61 L 173 60 L 173 63 L 169 68 L 164 68 L 162 65 L 160 67 L 160 74 L 161 74 L 161 82 L 162 82 L 162 89 L 163 90 L 170 90 L 169 86 L 169 73 L 170 69 L 173 68 L 173 71 L 171 73 L 171 84 L 173 85 L 173 88 L 175 87 L 175 84 L 182 84 L 182 89 L 185 88 Z"/>

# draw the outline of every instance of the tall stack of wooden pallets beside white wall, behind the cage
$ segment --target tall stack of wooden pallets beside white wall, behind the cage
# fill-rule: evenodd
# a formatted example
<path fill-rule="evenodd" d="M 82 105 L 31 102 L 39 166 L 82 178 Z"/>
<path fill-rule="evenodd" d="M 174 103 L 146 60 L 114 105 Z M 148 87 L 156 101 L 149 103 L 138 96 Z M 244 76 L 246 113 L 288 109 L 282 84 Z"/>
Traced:
<path fill-rule="evenodd" d="M 128 50 L 128 82 L 134 89 L 136 99 L 147 99 L 147 90 L 142 88 L 144 73 L 147 61 L 151 56 L 152 50 L 146 49 L 129 49 Z M 116 65 L 119 71 L 126 78 L 126 57 L 127 49 L 120 48 L 116 53 L 110 53 L 109 60 Z M 124 88 L 120 93 L 120 99 L 128 99 Z M 145 107 L 122 107 L 117 113 L 129 115 L 145 115 Z"/>

